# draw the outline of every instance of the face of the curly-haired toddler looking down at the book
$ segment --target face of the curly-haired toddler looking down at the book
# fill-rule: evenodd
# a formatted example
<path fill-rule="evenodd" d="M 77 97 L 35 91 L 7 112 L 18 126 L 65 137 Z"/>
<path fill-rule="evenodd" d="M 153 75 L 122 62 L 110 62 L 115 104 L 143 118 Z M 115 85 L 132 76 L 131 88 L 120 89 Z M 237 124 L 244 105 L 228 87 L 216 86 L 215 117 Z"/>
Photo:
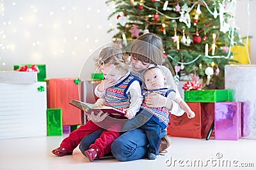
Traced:
<path fill-rule="evenodd" d="M 116 69 L 114 64 L 103 64 L 100 66 L 100 71 L 103 73 L 104 78 L 106 80 L 118 81 L 122 76 L 124 76 L 124 71 L 120 71 L 120 69 Z"/>

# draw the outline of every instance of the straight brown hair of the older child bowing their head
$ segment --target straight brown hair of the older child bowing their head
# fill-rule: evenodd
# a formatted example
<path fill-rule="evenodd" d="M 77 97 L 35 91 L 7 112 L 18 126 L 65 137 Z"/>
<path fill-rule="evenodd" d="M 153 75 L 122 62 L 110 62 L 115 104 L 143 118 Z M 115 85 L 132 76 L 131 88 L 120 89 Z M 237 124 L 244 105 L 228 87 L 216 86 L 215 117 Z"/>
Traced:
<path fill-rule="evenodd" d="M 132 57 L 150 64 L 163 64 L 163 41 L 153 33 L 142 34 L 132 41 L 130 46 Z"/>

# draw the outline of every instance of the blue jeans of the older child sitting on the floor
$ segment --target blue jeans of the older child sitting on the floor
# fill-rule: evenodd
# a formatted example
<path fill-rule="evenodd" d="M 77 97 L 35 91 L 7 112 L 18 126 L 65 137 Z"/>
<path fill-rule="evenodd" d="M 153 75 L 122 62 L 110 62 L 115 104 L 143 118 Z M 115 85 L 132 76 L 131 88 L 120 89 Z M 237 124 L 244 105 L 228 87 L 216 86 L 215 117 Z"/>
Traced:
<path fill-rule="evenodd" d="M 99 138 L 101 132 L 102 130 L 93 132 L 82 139 L 79 148 L 83 154 L 94 143 L 95 139 Z M 160 138 L 163 138 L 166 134 L 167 132 L 162 129 Z M 119 138 L 115 139 L 112 143 L 111 152 L 120 161 L 144 159 L 147 157 L 148 145 L 145 132 L 142 129 L 134 129 L 125 132 Z"/>

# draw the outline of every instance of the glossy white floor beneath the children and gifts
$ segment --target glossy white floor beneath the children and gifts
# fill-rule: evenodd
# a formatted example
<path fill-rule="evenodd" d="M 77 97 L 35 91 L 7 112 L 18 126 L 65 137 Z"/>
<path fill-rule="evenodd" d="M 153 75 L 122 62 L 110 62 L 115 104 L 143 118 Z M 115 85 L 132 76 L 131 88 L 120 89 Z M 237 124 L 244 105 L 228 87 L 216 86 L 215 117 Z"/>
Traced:
<path fill-rule="evenodd" d="M 256 140 L 217 141 L 173 138 L 168 153 L 156 160 L 120 162 L 113 157 L 89 162 L 78 148 L 73 155 L 56 157 L 63 136 L 0 140 L 0 169 L 255 169 Z M 192 165 L 191 165 L 192 163 Z M 245 163 L 245 164 L 244 164 Z M 189 166 L 190 164 L 190 166 Z M 191 167 L 192 166 L 192 167 Z M 251 166 L 251 167 L 242 167 Z M 253 167 L 252 167 L 253 166 Z"/>

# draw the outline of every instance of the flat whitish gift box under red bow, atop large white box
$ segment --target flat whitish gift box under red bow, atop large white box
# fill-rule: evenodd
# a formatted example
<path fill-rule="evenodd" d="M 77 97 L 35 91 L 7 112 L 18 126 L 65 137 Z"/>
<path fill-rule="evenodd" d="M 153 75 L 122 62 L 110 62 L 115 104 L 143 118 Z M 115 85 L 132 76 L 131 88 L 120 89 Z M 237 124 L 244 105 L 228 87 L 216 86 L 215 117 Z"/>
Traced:
<path fill-rule="evenodd" d="M 36 72 L 0 71 L 0 83 L 35 83 Z"/>

